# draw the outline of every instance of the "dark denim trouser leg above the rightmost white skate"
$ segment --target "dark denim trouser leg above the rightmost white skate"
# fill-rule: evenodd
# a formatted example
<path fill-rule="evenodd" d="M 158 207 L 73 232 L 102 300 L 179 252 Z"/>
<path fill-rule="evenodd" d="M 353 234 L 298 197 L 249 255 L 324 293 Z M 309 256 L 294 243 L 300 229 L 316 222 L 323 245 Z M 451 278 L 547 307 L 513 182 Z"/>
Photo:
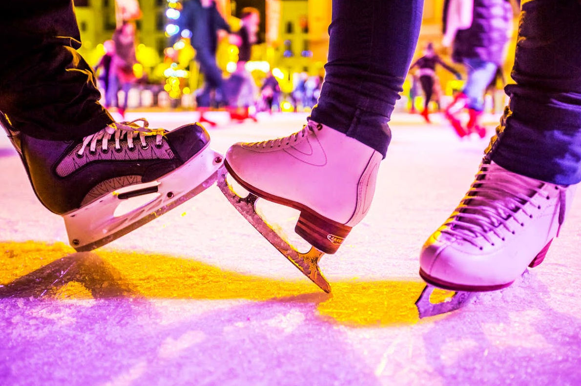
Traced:
<path fill-rule="evenodd" d="M 581 181 L 581 3 L 523 4 L 503 124 L 487 157 L 554 184 Z"/>

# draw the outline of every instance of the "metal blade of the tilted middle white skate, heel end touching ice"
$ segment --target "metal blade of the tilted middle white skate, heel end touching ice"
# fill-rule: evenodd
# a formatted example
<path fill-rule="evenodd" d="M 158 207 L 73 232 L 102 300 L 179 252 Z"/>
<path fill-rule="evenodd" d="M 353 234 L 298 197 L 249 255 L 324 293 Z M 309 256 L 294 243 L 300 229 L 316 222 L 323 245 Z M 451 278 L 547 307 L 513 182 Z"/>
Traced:
<path fill-rule="evenodd" d="M 318 262 L 321 259 L 321 256 L 324 255 L 323 252 L 319 251 L 314 246 L 311 246 L 311 249 L 307 253 L 302 253 L 297 251 L 297 249 L 286 242 L 280 235 L 278 235 L 270 225 L 263 220 L 258 213 L 256 213 L 256 200 L 259 198 L 258 196 L 249 193 L 246 198 L 242 198 L 241 196 L 237 195 L 232 187 L 228 184 L 226 177 L 228 175 L 228 171 L 223 166 L 218 170 L 218 181 L 217 185 L 220 188 L 220 191 L 226 196 L 228 201 L 234 205 L 234 207 L 241 213 L 243 217 L 257 231 L 260 232 L 261 235 L 274 246 L 277 248 L 282 255 L 285 256 L 297 269 L 299 269 L 304 276 L 308 277 L 313 283 L 317 284 L 319 288 L 321 288 L 325 292 L 331 292 L 331 285 L 324 276 L 322 276 L 321 270 L 319 269 Z"/>

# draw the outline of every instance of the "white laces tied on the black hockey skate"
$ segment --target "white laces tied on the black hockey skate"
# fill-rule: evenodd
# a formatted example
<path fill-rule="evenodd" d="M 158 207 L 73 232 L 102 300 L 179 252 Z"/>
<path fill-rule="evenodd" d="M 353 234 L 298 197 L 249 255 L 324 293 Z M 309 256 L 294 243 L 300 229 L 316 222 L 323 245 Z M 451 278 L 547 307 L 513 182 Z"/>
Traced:
<path fill-rule="evenodd" d="M 141 122 L 141 125 L 138 124 Z M 132 150 L 134 148 L 134 139 L 139 137 L 139 142 L 141 142 L 142 148 L 147 148 L 148 144 L 146 142 L 146 137 L 148 135 L 155 135 L 155 145 L 162 146 L 162 137 L 166 131 L 163 128 L 149 128 L 149 122 L 145 118 L 138 118 L 132 121 L 114 122 L 109 126 L 99 130 L 95 134 L 87 135 L 83 138 L 83 145 L 77 152 L 77 155 L 81 156 L 89 147 L 89 152 L 95 153 L 97 148 L 97 142 L 101 141 L 101 150 L 106 152 L 108 149 L 109 141 L 113 138 L 115 141 L 115 150 L 121 150 L 121 140 L 124 138 L 127 140 L 127 147 Z"/>

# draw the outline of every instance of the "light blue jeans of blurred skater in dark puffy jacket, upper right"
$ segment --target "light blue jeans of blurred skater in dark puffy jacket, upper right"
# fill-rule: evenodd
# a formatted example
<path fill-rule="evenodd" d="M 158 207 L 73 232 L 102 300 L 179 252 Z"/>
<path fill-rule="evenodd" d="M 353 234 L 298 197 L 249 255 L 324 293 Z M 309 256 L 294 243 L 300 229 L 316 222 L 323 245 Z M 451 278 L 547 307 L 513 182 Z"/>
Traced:
<path fill-rule="evenodd" d="M 496 75 L 497 65 L 493 62 L 474 58 L 464 59 L 468 79 L 464 86 L 464 94 L 468 96 L 468 108 L 476 111 L 484 110 L 484 92 Z"/>

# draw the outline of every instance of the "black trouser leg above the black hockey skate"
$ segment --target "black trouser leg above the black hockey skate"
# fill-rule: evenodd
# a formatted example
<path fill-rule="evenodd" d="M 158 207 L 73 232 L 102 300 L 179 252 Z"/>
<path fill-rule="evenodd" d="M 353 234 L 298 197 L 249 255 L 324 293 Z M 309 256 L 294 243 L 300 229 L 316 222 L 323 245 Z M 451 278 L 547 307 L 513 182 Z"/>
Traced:
<path fill-rule="evenodd" d="M 79 47 L 70 0 L 0 2 L 0 111 L 17 130 L 72 140 L 113 121 Z"/>

